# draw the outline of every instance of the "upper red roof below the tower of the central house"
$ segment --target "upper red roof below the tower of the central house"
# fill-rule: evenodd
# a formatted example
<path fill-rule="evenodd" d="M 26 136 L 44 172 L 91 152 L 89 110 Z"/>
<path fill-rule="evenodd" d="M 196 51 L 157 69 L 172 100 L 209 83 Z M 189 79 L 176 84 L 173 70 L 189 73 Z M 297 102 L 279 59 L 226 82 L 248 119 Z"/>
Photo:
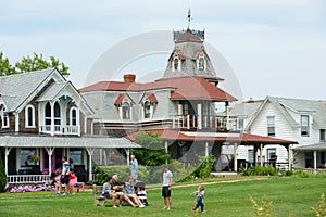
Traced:
<path fill-rule="evenodd" d="M 201 76 L 187 76 L 162 78 L 153 82 L 120 82 L 100 81 L 95 85 L 79 89 L 87 91 L 149 91 L 158 89 L 172 89 L 171 99 L 206 99 L 212 101 L 236 101 L 237 99 L 218 87 L 209 82 Z"/>

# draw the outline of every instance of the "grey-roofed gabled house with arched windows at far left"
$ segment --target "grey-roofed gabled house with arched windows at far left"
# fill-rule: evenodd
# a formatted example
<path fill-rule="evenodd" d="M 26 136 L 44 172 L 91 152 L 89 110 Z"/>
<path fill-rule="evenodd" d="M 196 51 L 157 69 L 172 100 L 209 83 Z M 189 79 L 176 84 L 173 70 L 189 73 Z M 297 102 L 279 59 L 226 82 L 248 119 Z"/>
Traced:
<path fill-rule="evenodd" d="M 96 150 L 139 146 L 91 136 L 92 118 L 91 107 L 57 68 L 0 77 L 0 156 L 9 182 L 49 181 L 64 155 L 86 181 L 92 179 Z"/>

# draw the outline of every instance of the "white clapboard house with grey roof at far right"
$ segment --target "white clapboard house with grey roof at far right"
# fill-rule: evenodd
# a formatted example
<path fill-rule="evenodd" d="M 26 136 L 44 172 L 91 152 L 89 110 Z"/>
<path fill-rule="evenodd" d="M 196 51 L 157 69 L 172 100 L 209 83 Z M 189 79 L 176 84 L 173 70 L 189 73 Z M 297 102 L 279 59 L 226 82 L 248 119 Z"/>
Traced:
<path fill-rule="evenodd" d="M 298 141 L 287 149 L 267 145 L 259 153 L 264 162 L 276 158 L 278 164 L 291 162 L 298 168 L 325 167 L 326 101 L 266 97 L 235 105 L 231 115 L 241 119 L 238 128 L 244 132 Z M 238 157 L 253 161 L 253 146 L 240 146 Z"/>

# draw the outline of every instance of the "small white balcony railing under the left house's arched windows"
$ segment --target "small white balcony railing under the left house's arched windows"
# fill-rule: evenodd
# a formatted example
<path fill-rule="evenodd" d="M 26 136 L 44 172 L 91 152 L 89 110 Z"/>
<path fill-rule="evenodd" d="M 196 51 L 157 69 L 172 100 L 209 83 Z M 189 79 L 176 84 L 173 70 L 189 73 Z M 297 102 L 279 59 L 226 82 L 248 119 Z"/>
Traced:
<path fill-rule="evenodd" d="M 62 125 L 51 125 L 40 126 L 40 133 L 47 135 L 75 135 L 80 136 L 80 127 L 79 126 L 62 126 Z"/>

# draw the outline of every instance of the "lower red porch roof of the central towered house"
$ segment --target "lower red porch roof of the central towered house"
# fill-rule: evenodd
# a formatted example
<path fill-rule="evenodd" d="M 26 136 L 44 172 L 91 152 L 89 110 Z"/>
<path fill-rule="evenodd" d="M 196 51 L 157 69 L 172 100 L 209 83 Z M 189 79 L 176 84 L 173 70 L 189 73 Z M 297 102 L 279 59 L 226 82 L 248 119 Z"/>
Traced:
<path fill-rule="evenodd" d="M 247 143 L 264 143 L 264 144 L 297 144 L 296 141 L 277 139 L 272 137 L 263 137 L 250 133 L 239 133 L 239 137 L 201 137 L 201 136 L 187 136 L 180 131 L 173 129 L 158 129 L 158 130 L 146 130 L 137 131 L 125 136 L 125 138 L 134 141 L 136 136 L 142 132 L 149 132 L 153 135 L 160 135 L 164 140 L 183 140 L 183 141 L 234 141 L 234 142 L 247 142 Z"/>

